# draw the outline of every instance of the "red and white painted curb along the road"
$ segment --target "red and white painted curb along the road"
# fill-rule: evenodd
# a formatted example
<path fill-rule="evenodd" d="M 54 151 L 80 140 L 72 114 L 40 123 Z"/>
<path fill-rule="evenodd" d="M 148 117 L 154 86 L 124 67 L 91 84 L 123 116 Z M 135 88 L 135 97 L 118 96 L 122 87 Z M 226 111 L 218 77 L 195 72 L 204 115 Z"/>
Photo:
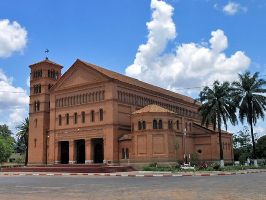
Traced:
<path fill-rule="evenodd" d="M 0 176 L 116 176 L 116 177 L 193 177 L 193 176 L 225 176 L 250 173 L 261 173 L 263 171 L 234 172 L 234 173 L 208 173 L 208 174 L 99 174 L 99 173 L 0 173 Z"/>

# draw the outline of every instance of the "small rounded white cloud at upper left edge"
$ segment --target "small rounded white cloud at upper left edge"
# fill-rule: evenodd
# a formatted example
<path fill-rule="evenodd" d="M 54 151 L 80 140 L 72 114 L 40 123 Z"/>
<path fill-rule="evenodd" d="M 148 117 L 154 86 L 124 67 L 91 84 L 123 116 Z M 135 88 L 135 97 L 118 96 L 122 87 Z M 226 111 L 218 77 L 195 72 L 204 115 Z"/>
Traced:
<path fill-rule="evenodd" d="M 27 31 L 16 21 L 0 20 L 0 57 L 10 57 L 13 52 L 23 53 L 27 43 Z"/>

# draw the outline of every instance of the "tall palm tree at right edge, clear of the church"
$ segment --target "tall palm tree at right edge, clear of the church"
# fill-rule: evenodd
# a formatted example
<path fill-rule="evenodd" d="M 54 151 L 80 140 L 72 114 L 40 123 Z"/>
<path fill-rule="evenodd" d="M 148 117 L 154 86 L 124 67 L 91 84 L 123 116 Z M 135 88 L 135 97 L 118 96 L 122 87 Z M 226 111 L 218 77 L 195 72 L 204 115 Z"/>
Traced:
<path fill-rule="evenodd" d="M 250 125 L 251 138 L 253 145 L 253 159 L 254 165 L 257 164 L 257 155 L 253 134 L 253 124 L 257 123 L 257 119 L 261 117 L 264 119 L 264 111 L 266 111 L 266 97 L 261 95 L 266 93 L 266 81 L 259 79 L 259 72 L 256 72 L 251 76 L 249 71 L 245 74 L 238 74 L 239 81 L 234 81 L 232 86 L 234 87 L 234 96 L 239 105 L 239 119 L 241 123 L 244 119 L 247 119 L 247 123 Z"/>

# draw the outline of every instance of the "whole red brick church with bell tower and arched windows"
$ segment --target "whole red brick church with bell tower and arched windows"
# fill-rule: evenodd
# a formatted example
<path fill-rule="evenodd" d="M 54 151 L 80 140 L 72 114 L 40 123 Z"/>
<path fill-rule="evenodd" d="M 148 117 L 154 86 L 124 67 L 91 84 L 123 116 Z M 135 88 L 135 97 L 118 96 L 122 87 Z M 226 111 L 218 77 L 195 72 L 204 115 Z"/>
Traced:
<path fill-rule="evenodd" d="M 29 67 L 29 165 L 174 164 L 191 152 L 220 159 L 218 132 L 201 126 L 190 97 L 79 59 L 63 75 L 49 59 Z M 232 163 L 232 134 L 222 138 Z"/>

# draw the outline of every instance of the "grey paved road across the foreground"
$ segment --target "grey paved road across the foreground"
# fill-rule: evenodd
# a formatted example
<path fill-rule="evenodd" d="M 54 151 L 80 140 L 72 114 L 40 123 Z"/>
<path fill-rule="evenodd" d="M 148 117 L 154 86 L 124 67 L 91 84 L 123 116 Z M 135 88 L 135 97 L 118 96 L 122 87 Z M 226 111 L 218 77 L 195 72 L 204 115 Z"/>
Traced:
<path fill-rule="evenodd" d="M 266 173 L 158 178 L 0 176 L 0 199 L 266 199 Z"/>

